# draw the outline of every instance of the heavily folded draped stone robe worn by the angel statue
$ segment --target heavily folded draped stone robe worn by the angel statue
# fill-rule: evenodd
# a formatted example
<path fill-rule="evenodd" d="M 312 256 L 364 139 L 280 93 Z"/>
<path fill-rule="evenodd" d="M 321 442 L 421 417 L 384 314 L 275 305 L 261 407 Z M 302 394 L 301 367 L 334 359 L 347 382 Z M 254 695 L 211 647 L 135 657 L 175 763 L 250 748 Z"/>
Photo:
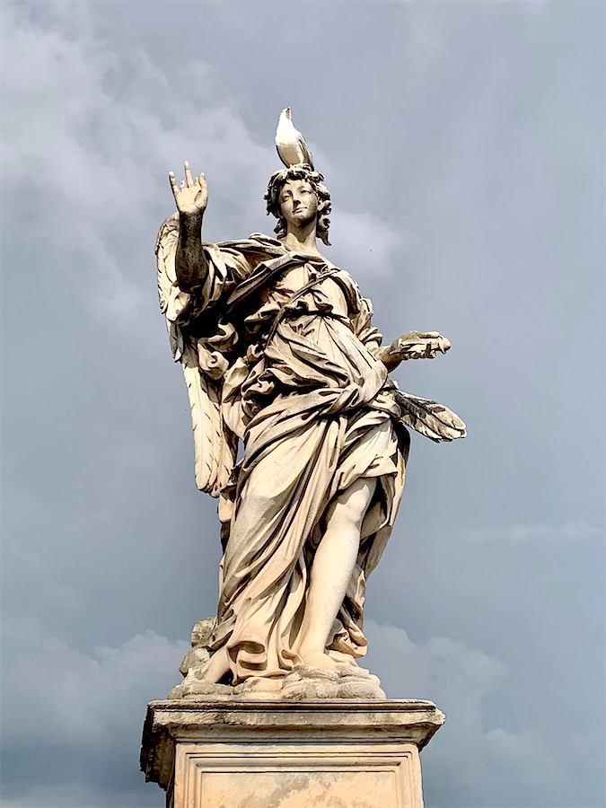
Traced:
<path fill-rule="evenodd" d="M 382 337 L 371 303 L 346 271 L 259 234 L 205 245 L 205 253 L 204 282 L 189 293 L 174 285 L 171 317 L 187 329 L 220 312 L 206 362 L 223 373 L 224 423 L 244 445 L 219 506 L 229 539 L 207 647 L 226 648 L 233 683 L 284 676 L 300 662 L 310 569 L 329 505 L 356 480 L 374 478 L 327 646 L 334 659 L 353 662 L 366 653 L 365 580 L 391 533 L 408 457 L 408 432 L 376 356 Z"/>

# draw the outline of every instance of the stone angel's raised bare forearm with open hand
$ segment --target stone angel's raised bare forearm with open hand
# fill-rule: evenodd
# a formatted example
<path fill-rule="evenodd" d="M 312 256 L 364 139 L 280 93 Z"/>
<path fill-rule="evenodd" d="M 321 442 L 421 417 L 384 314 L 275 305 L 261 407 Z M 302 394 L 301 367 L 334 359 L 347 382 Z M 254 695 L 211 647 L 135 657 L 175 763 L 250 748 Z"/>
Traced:
<path fill-rule="evenodd" d="M 169 180 L 179 211 L 179 240 L 175 252 L 177 283 L 182 292 L 191 292 L 204 285 L 208 276 L 208 262 L 202 247 L 202 221 L 208 204 L 206 178 L 200 174 L 193 180 L 189 162 L 185 162 L 185 180 L 179 185 L 172 171 Z"/>

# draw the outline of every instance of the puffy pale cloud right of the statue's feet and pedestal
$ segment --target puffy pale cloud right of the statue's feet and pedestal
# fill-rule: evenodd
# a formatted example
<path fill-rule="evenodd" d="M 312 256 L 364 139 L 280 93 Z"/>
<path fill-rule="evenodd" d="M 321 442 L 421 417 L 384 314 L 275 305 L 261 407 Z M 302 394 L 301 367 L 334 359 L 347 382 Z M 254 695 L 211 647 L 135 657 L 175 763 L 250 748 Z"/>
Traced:
<path fill-rule="evenodd" d="M 416 644 L 402 628 L 373 620 L 366 632 L 368 665 L 381 676 L 388 696 L 427 698 L 446 715 L 422 756 L 424 787 L 433 804 L 505 808 L 520 804 L 521 795 L 545 800 L 535 805 L 560 804 L 554 800 L 566 783 L 563 761 L 532 716 L 531 726 L 519 731 L 487 726 L 485 701 L 505 680 L 503 663 L 447 637 Z"/>

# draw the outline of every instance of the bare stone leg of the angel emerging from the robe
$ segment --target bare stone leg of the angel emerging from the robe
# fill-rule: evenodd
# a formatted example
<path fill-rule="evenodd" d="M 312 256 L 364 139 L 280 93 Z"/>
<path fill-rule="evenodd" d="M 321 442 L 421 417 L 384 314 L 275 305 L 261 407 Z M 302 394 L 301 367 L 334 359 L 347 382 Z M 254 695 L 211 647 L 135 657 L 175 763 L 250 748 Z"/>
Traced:
<path fill-rule="evenodd" d="M 330 505 L 327 529 L 312 563 L 298 648 L 303 663 L 314 668 L 335 664 L 326 644 L 356 565 L 360 531 L 375 487 L 375 478 L 358 479 Z"/>

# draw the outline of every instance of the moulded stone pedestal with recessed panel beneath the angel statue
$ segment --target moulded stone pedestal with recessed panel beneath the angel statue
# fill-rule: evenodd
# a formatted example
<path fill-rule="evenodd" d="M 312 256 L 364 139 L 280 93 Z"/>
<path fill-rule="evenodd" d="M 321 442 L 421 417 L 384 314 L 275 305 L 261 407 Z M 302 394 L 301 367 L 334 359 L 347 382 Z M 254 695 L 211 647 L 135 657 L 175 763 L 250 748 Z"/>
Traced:
<path fill-rule="evenodd" d="M 141 748 L 170 808 L 422 808 L 430 701 L 153 701 Z"/>

